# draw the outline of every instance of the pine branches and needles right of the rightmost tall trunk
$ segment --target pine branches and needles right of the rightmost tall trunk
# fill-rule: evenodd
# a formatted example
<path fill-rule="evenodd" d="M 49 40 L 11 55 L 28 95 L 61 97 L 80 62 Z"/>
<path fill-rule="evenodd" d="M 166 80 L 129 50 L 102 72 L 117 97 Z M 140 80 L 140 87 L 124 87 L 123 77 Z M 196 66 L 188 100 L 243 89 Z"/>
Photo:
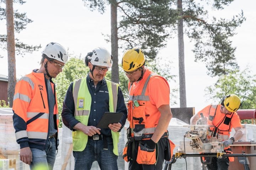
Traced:
<path fill-rule="evenodd" d="M 238 68 L 234 55 L 236 47 L 232 47 L 230 38 L 235 29 L 245 21 L 243 12 L 231 19 L 209 18 L 207 7 L 212 6 L 215 12 L 223 10 L 233 0 L 208 1 L 183 0 L 183 21 L 185 33 L 195 42 L 193 52 L 195 61 L 202 61 L 209 70 L 208 75 L 228 74 Z"/>

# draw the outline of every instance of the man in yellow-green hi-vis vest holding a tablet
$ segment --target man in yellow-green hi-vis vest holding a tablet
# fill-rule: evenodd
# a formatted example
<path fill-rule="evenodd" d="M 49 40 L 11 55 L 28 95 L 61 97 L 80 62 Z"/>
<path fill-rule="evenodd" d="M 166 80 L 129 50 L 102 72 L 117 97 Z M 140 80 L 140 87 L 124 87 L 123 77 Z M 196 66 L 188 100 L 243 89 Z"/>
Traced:
<path fill-rule="evenodd" d="M 126 105 L 119 84 L 105 79 L 112 67 L 112 55 L 97 47 L 85 57 L 90 72 L 86 78 L 71 83 L 66 93 L 62 121 L 73 131 L 75 170 L 89 170 L 94 161 L 101 170 L 118 170 L 119 131 L 127 118 Z M 122 112 L 119 122 L 108 129 L 96 128 L 105 112 Z"/>

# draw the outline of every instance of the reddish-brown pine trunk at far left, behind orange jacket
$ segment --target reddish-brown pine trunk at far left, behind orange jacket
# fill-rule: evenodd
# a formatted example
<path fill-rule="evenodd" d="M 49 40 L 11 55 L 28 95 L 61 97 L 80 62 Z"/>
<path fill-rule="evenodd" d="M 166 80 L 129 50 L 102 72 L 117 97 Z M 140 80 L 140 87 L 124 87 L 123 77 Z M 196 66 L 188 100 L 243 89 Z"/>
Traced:
<path fill-rule="evenodd" d="M 8 97 L 12 107 L 14 89 L 16 85 L 16 61 L 14 41 L 14 12 L 13 1 L 6 0 L 6 27 L 7 27 L 7 56 L 8 56 Z"/>

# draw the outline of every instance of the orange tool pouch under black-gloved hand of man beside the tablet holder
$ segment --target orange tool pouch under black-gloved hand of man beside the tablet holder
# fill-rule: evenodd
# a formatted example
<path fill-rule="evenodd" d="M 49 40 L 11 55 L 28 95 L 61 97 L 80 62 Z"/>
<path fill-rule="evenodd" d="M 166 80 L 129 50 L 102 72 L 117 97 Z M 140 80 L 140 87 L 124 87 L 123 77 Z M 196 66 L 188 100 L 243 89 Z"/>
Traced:
<path fill-rule="evenodd" d="M 138 148 L 137 155 L 138 164 L 153 165 L 156 163 L 156 149 L 149 149 L 143 146 L 141 143 Z"/>

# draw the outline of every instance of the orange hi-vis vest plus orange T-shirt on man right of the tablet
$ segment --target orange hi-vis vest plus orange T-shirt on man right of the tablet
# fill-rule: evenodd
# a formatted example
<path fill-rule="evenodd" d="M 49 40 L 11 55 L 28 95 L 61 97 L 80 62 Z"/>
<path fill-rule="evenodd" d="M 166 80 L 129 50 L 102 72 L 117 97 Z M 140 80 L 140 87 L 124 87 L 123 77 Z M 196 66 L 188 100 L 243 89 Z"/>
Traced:
<path fill-rule="evenodd" d="M 167 99 L 159 98 L 160 104 L 155 104 L 154 101 L 151 100 L 148 85 L 153 79 L 159 79 L 160 82 L 164 84 L 164 87 L 169 87 L 169 84 L 163 77 L 151 72 L 149 69 L 144 73 L 142 80 L 135 82 L 132 85 L 130 83 L 128 84 L 129 102 L 127 108 L 130 128 L 127 131 L 127 137 L 129 141 L 140 141 L 151 138 L 161 116 L 158 107 L 161 106 L 161 104 L 169 104 L 170 102 L 170 88 L 165 88 L 166 92 L 169 92 L 167 94 L 168 97 Z M 151 83 L 150 85 L 154 85 L 156 88 L 158 87 L 158 85 L 155 85 L 154 83 Z M 163 92 L 165 93 L 165 91 Z M 164 136 L 168 136 L 167 130 Z"/>

